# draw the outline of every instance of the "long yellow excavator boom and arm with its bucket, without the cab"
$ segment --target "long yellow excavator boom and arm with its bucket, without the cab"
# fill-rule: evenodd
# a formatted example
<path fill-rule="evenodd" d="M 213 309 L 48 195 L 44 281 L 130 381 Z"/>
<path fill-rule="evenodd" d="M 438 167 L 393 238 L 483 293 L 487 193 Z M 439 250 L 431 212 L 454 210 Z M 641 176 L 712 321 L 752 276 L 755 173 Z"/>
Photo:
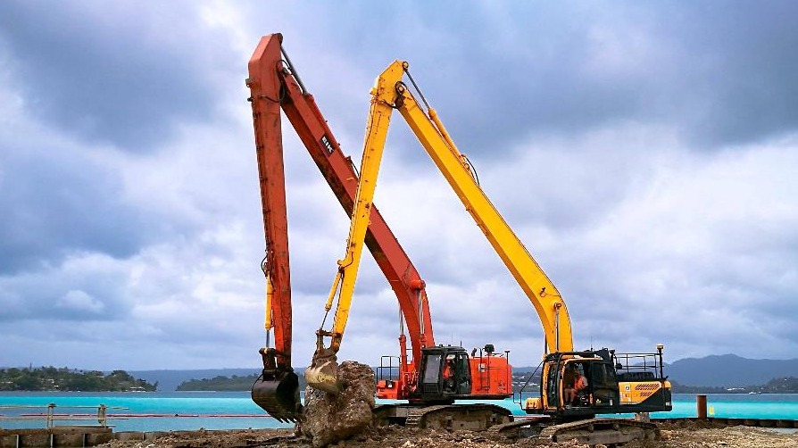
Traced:
<path fill-rule="evenodd" d="M 470 212 L 495 252 L 499 254 L 535 307 L 543 323 L 549 353 L 573 350 L 568 310 L 556 286 L 537 265 L 518 236 L 478 186 L 469 163 L 453 144 L 443 124 L 437 119 L 436 112 L 431 108 L 425 112 L 411 95 L 402 80 L 407 69 L 407 62 L 393 62 L 380 74 L 371 90 L 370 115 L 353 220 L 345 257 L 338 261 L 337 276 L 330 289 L 326 306 L 329 311 L 337 294 L 335 319 L 329 331 L 323 329 L 322 322 L 322 328 L 317 332 L 317 349 L 313 355 L 312 366 L 305 371 L 308 384 L 328 392 L 336 392 L 339 389 L 335 354 L 340 347 L 349 316 L 354 282 L 362 254 L 362 236 L 370 219 L 371 201 L 394 109 L 397 109 L 410 125 L 438 170 L 460 197 L 466 210 Z M 328 347 L 324 346 L 323 337 L 330 338 Z"/>

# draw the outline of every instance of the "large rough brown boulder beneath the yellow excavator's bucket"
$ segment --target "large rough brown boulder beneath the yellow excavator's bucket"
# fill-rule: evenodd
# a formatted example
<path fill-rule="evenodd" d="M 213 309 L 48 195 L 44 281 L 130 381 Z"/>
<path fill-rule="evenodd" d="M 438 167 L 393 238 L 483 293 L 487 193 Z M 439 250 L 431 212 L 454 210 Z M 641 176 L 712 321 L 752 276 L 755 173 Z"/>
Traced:
<path fill-rule="evenodd" d="M 374 371 L 365 364 L 344 361 L 338 367 L 340 394 L 305 388 L 303 433 L 315 447 L 327 446 L 357 436 L 371 426 L 374 409 Z"/>

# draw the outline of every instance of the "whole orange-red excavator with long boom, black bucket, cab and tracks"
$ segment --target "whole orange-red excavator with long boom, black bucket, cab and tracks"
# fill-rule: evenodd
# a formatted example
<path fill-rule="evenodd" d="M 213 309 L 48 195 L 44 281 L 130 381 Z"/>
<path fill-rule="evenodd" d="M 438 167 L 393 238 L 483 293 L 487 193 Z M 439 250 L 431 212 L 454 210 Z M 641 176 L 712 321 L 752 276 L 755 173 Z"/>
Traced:
<path fill-rule="evenodd" d="M 291 366 L 291 287 L 280 111 L 286 114 L 349 216 L 356 202 L 358 175 L 281 43 L 280 34 L 262 37 L 249 61 L 246 79 L 251 93 L 266 237 L 266 257 L 262 261 L 266 276 L 266 346 L 260 351 L 263 369 L 253 385 L 252 399 L 275 419 L 297 421 L 302 419 L 303 410 L 298 377 Z M 398 358 L 398 362 L 393 365 L 390 361 L 378 369 L 377 395 L 408 400 L 406 404 L 379 406 L 375 410 L 378 424 L 484 429 L 510 421 L 510 411 L 500 406 L 452 404 L 461 399 L 511 396 L 509 352 L 495 353 L 492 344 L 474 349 L 470 355 L 462 347 L 436 346 L 425 283 L 373 206 L 364 240 L 394 290 L 401 311 L 400 354 L 384 357 Z M 407 356 L 405 328 L 411 340 L 411 358 Z"/>

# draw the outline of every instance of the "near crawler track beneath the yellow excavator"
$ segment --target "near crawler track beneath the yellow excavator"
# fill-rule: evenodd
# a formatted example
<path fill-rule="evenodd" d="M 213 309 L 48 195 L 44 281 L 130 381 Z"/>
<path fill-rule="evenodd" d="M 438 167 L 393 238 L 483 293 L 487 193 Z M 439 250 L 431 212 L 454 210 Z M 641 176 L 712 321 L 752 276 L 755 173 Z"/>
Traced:
<path fill-rule="evenodd" d="M 660 429 L 654 423 L 630 419 L 587 419 L 544 427 L 538 439 L 548 442 L 575 440 L 579 444 L 626 444 L 633 440 L 657 440 Z"/>

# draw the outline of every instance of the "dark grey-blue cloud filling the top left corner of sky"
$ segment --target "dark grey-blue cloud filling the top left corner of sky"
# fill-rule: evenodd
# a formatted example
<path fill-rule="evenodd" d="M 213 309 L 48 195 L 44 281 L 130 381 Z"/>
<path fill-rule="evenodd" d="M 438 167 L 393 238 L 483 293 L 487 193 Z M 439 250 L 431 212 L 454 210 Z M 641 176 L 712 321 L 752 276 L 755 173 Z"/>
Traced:
<path fill-rule="evenodd" d="M 181 121 L 210 120 L 211 73 L 235 60 L 217 50 L 228 37 L 184 6 L 0 4 L 0 43 L 29 113 L 134 153 L 153 152 Z"/>

